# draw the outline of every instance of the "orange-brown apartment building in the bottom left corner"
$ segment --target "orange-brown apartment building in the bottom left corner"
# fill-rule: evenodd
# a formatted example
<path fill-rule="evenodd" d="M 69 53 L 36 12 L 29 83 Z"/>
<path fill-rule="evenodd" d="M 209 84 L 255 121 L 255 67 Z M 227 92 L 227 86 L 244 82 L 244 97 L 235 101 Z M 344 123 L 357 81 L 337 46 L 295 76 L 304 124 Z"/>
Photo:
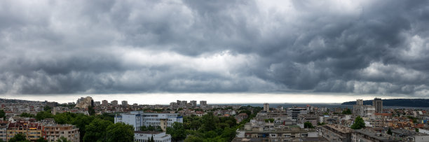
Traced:
<path fill-rule="evenodd" d="M 43 126 L 40 123 L 34 122 L 11 122 L 7 129 L 7 140 L 15 136 L 15 134 L 25 134 L 27 140 L 36 141 L 43 137 Z"/>

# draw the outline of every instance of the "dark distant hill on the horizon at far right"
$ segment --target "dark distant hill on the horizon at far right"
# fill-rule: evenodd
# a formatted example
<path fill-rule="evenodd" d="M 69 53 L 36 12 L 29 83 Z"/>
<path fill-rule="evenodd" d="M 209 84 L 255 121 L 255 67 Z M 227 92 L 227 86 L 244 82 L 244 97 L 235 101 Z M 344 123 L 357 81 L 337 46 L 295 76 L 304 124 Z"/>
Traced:
<path fill-rule="evenodd" d="M 372 105 L 372 100 L 364 100 L 364 105 Z M 343 102 L 341 105 L 355 105 L 356 101 Z M 383 99 L 383 106 L 429 107 L 429 99 Z"/>

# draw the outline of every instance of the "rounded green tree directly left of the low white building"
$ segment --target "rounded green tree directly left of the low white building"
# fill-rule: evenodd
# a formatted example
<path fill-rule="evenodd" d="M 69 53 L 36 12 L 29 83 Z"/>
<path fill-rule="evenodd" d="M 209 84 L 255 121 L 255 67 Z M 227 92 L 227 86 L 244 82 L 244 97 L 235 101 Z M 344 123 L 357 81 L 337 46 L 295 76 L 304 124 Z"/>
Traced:
<path fill-rule="evenodd" d="M 119 122 L 107 127 L 107 141 L 128 142 L 134 141 L 134 127 Z"/>

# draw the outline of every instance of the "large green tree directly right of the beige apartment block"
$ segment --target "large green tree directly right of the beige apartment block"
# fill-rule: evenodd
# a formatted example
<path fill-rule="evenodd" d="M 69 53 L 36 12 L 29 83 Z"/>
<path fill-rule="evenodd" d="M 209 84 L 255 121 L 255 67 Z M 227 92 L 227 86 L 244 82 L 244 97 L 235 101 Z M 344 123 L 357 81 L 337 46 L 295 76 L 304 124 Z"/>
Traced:
<path fill-rule="evenodd" d="M 95 118 L 93 122 L 86 126 L 86 133 L 83 136 L 83 141 L 107 141 L 106 129 L 109 125 L 113 125 L 108 120 Z"/>

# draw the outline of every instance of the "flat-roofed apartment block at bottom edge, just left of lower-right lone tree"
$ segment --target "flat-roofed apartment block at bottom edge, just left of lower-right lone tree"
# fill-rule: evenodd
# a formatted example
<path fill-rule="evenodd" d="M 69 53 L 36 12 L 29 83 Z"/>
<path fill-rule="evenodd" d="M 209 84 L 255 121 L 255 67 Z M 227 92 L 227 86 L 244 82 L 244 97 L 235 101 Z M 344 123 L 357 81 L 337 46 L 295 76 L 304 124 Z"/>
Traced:
<path fill-rule="evenodd" d="M 316 127 L 319 135 L 329 141 L 351 142 L 352 129 L 341 125 L 323 125 Z"/>

